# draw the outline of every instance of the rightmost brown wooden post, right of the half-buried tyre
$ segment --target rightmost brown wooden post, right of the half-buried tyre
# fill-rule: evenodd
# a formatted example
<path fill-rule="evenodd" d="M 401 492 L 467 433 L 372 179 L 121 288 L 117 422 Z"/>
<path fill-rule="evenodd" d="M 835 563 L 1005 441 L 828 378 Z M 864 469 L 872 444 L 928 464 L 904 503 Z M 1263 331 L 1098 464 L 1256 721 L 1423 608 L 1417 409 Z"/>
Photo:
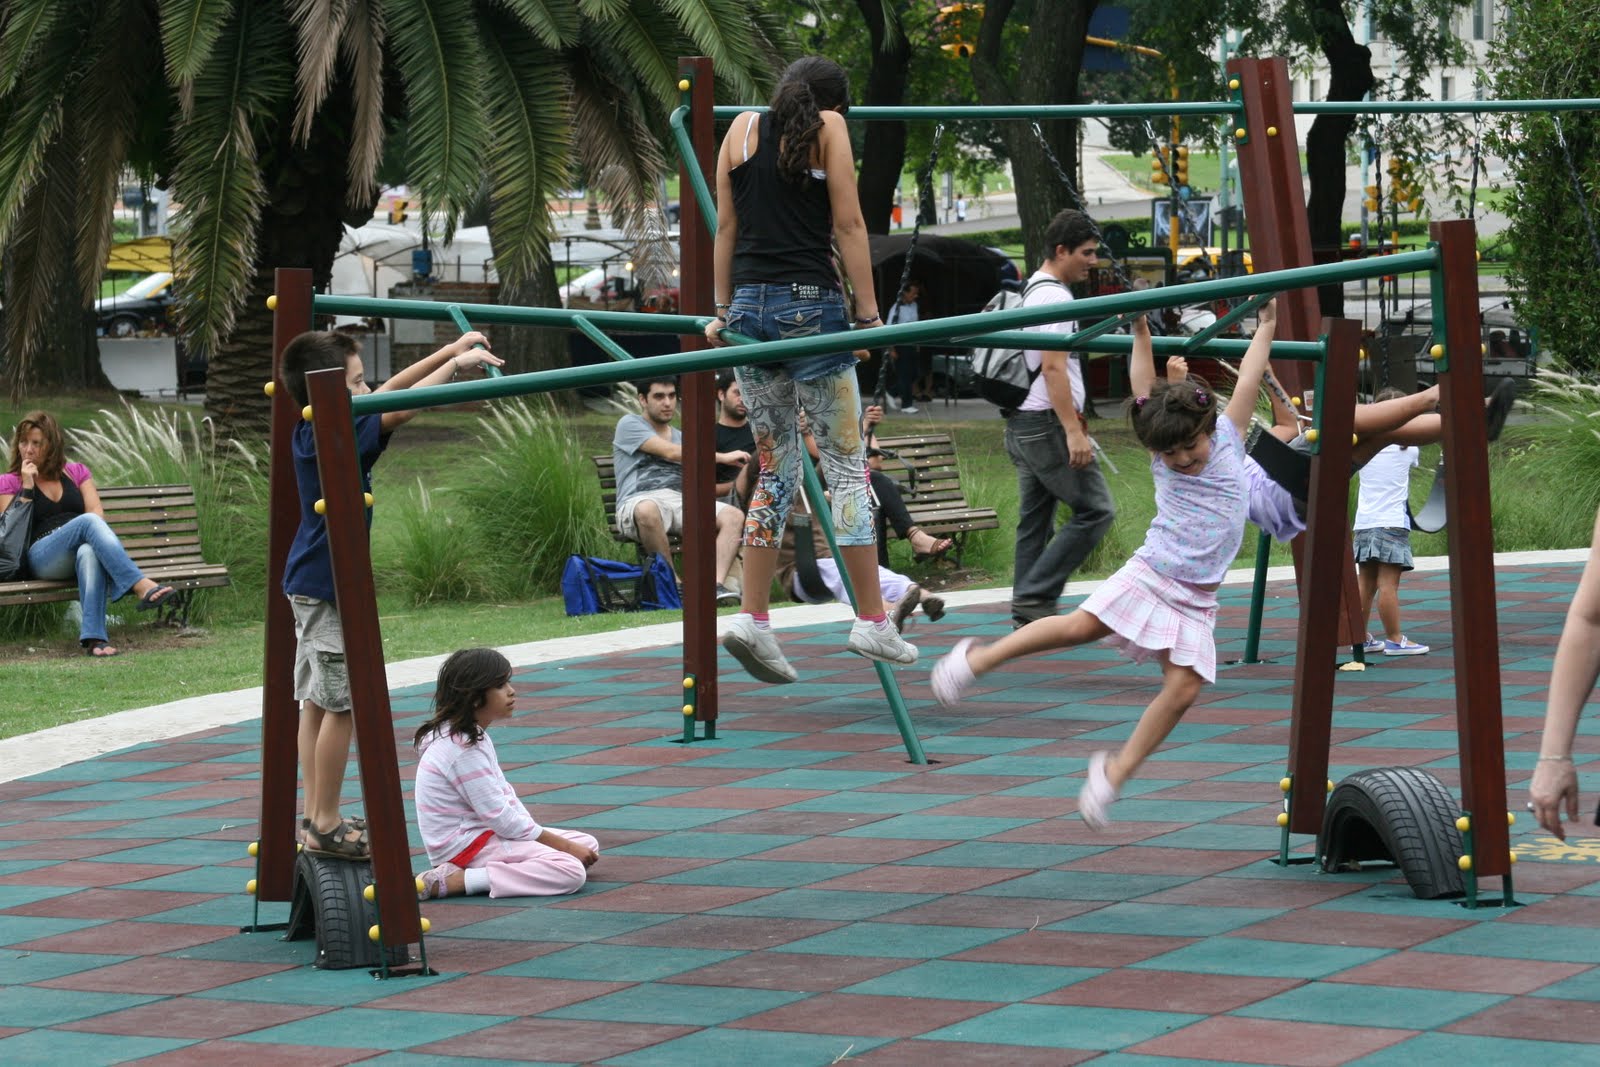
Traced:
<path fill-rule="evenodd" d="M 1445 304 L 1445 366 L 1438 410 L 1445 419 L 1445 509 L 1450 515 L 1450 619 L 1454 627 L 1456 731 L 1461 803 L 1472 813 L 1474 870 L 1510 872 L 1506 825 L 1506 742 L 1501 733 L 1499 625 L 1494 611 L 1494 522 L 1490 510 L 1488 437 L 1483 421 L 1483 333 L 1478 310 L 1477 227 L 1434 222 L 1440 269 L 1435 322 Z M 1435 334 L 1437 341 L 1437 334 Z"/>

